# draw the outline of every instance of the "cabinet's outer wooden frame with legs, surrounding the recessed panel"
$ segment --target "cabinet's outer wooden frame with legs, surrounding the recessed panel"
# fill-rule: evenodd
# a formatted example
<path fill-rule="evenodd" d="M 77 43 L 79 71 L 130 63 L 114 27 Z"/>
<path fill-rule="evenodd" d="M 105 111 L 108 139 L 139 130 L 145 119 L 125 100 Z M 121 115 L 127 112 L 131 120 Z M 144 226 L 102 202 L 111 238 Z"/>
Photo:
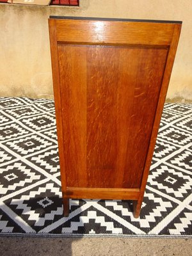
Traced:
<path fill-rule="evenodd" d="M 134 216 L 140 214 L 141 203 L 145 192 L 148 172 L 156 144 L 157 132 L 163 111 L 164 100 L 173 67 L 173 61 L 179 42 L 182 22 L 147 21 L 147 20 L 114 20 L 86 19 L 70 17 L 51 17 L 49 33 L 51 44 L 52 79 L 56 107 L 56 124 L 58 132 L 58 147 L 61 166 L 61 186 L 63 192 L 64 215 L 68 215 L 68 198 L 103 198 L 134 200 Z M 157 106 L 148 143 L 145 164 L 138 188 L 78 188 L 67 184 L 65 170 L 65 153 L 63 151 L 63 115 L 61 74 L 58 57 L 58 45 L 105 45 L 111 47 L 161 47 L 167 49 L 166 64 L 158 95 Z M 80 171 L 79 171 L 80 172 Z M 84 172 L 85 173 L 85 172 Z M 81 176 L 84 175 L 83 172 Z M 122 176 L 123 177 L 123 176 Z M 115 182 L 115 181 L 114 181 Z M 85 184 L 86 185 L 86 184 Z"/>

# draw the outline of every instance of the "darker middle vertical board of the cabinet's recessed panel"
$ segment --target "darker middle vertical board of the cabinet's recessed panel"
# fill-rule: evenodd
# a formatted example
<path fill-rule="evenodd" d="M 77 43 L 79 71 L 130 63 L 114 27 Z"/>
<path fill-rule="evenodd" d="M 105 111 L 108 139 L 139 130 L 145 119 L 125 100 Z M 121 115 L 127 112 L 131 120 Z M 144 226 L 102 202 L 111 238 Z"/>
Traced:
<path fill-rule="evenodd" d="M 113 188 L 117 175 L 118 47 L 89 46 L 87 62 L 87 171 L 90 187 Z"/>

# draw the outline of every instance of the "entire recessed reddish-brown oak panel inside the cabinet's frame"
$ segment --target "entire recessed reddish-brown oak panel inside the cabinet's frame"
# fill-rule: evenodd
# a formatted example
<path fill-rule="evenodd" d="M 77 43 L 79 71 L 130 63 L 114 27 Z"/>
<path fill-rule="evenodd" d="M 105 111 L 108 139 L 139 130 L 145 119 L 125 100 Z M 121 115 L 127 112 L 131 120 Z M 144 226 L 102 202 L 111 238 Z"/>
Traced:
<path fill-rule="evenodd" d="M 167 52 L 59 45 L 67 186 L 140 188 Z"/>

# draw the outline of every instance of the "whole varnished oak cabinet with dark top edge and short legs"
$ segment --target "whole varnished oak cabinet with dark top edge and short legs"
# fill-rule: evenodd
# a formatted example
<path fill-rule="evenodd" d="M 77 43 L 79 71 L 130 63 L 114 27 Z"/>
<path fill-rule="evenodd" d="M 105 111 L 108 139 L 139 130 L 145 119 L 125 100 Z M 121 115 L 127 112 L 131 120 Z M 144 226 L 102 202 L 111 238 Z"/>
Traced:
<path fill-rule="evenodd" d="M 64 214 L 145 192 L 181 22 L 50 17 Z"/>

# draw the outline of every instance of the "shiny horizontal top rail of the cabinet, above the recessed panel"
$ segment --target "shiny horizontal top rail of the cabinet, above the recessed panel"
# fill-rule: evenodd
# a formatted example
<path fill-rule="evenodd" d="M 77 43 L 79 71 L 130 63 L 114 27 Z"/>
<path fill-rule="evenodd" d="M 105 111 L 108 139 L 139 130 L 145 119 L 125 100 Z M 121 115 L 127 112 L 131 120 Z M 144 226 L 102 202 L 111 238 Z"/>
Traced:
<path fill-rule="evenodd" d="M 175 24 L 57 20 L 57 40 L 76 44 L 170 45 Z M 120 35 L 121 34 L 121 35 Z"/>

